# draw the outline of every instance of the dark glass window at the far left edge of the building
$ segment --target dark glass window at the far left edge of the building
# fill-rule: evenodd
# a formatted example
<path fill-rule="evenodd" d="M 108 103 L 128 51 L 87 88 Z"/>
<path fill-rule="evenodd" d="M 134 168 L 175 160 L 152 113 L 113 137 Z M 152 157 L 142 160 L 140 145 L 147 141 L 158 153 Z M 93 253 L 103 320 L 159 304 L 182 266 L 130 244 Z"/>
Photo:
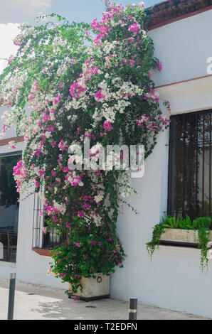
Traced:
<path fill-rule="evenodd" d="M 18 193 L 13 168 L 21 160 L 21 152 L 0 154 L 0 242 L 3 258 L 0 261 L 16 262 L 18 235 Z"/>

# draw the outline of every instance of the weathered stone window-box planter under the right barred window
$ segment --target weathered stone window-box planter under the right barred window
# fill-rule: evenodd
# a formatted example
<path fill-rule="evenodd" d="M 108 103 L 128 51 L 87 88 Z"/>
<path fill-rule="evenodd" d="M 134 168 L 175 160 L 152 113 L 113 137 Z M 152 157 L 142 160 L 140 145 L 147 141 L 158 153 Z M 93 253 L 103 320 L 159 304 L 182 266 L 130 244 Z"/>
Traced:
<path fill-rule="evenodd" d="M 212 241 L 212 231 L 211 231 Z M 160 238 L 161 242 L 173 242 L 182 244 L 198 244 L 197 230 L 165 229 Z"/>

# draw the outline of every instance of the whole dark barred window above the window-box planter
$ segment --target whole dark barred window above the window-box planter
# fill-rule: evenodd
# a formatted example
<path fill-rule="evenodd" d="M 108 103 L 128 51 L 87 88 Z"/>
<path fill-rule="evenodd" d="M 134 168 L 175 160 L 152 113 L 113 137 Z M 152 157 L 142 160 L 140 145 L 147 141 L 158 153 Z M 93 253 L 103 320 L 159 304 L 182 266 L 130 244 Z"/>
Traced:
<path fill-rule="evenodd" d="M 171 117 L 169 215 L 211 216 L 211 113 Z"/>

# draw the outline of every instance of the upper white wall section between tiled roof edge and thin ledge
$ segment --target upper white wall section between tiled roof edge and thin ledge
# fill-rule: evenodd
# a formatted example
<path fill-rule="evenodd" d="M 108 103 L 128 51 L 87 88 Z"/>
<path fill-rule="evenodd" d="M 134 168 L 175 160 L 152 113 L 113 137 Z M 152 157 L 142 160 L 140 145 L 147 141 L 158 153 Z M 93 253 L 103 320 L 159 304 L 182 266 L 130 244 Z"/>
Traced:
<path fill-rule="evenodd" d="M 157 86 L 207 75 L 206 60 L 212 57 L 212 10 L 149 31 L 155 56 L 163 70 L 154 73 Z"/>

